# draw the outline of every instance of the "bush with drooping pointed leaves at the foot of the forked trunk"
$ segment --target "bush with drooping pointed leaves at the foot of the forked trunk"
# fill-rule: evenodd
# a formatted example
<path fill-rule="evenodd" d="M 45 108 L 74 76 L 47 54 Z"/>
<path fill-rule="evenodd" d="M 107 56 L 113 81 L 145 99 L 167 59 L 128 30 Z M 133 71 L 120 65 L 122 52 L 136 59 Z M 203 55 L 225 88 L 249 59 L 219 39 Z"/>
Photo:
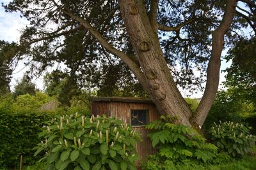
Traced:
<path fill-rule="evenodd" d="M 152 145 L 159 148 L 159 153 L 142 164 L 143 169 L 166 169 L 178 164 L 199 164 L 210 162 L 217 156 L 217 147 L 211 143 L 205 143 L 203 138 L 195 129 L 184 125 L 170 123 L 170 118 L 161 116 L 161 120 L 146 126 L 154 130 L 148 136 Z M 153 166 L 153 164 L 156 164 Z M 171 168 L 172 169 L 172 168 Z"/>

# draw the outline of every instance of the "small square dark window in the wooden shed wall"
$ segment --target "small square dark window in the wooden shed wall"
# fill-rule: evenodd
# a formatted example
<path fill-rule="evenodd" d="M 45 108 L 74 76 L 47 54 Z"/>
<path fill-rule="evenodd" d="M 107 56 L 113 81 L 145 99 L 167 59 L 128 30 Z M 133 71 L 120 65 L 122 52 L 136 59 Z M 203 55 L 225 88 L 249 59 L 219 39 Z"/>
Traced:
<path fill-rule="evenodd" d="M 131 110 L 131 125 L 147 125 L 148 110 Z"/>

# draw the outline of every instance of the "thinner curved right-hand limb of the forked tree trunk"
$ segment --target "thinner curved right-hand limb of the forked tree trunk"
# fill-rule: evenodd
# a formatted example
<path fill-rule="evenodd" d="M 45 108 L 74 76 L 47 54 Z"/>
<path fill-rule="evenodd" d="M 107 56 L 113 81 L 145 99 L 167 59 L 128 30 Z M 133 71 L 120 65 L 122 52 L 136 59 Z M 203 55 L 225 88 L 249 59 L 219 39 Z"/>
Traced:
<path fill-rule="evenodd" d="M 236 13 L 236 0 L 227 0 L 226 10 L 218 28 L 212 32 L 212 52 L 208 63 L 207 81 L 204 96 L 196 109 L 195 114 L 190 118 L 190 122 L 198 127 L 204 124 L 205 118 L 211 109 L 215 99 L 220 81 L 221 52 L 223 50 L 224 36 L 228 31 Z"/>

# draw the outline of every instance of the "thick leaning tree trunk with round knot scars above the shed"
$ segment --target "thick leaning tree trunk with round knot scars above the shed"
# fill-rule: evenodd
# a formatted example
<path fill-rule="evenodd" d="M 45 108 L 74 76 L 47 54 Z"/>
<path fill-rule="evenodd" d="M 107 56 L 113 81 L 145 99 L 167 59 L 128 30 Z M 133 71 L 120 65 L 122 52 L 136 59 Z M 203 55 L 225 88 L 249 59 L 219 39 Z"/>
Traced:
<path fill-rule="evenodd" d="M 161 114 L 177 117 L 178 124 L 189 125 L 192 111 L 177 89 L 163 57 L 156 32 L 152 29 L 143 1 L 120 1 L 120 9 L 132 46 L 140 61 L 143 85 Z M 143 82 L 142 82 L 143 81 Z"/>

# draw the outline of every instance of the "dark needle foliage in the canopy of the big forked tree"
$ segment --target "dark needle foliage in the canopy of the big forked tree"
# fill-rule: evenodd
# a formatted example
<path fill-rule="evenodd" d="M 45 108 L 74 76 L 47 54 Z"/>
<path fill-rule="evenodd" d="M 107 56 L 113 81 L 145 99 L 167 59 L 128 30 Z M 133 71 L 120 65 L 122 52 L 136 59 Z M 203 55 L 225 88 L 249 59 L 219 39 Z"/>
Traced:
<path fill-rule="evenodd" d="M 88 0 L 60 1 L 58 5 L 65 6 L 73 15 L 83 16 L 83 20 L 93 25 L 94 29 L 99 31 L 99 34 L 113 48 L 127 53 L 130 59 L 134 60 L 136 64 L 138 63 L 138 58 L 134 55 L 135 50 L 132 48 L 127 35 L 127 32 L 129 32 L 127 29 L 129 28 L 126 28 L 124 22 L 122 22 L 124 19 L 120 11 L 116 11 L 119 6 L 118 1 L 108 1 L 106 3 Z M 40 6 L 45 6 L 45 8 L 39 8 Z M 109 87 L 115 90 L 115 87 L 125 85 L 123 80 L 131 80 L 132 83 L 137 83 L 131 71 L 123 69 L 125 68 L 124 62 L 116 59 L 109 53 L 109 50 L 99 46 L 99 41 L 93 36 L 89 36 L 90 30 L 84 31 L 80 27 L 74 29 L 79 24 L 70 27 L 70 22 L 73 20 L 70 16 L 62 11 L 55 11 L 55 8 L 47 8 L 48 6 L 54 6 L 52 1 L 11 1 L 10 4 L 4 5 L 6 11 L 19 11 L 30 22 L 29 27 L 22 30 L 22 36 L 20 37 L 22 52 L 17 53 L 20 58 L 24 56 L 31 57 L 33 61 L 40 62 L 40 69 L 45 69 L 54 62 L 61 62 L 68 67 L 71 73 L 81 74 L 79 75 L 80 80 L 83 80 L 84 76 L 86 76 L 86 79 L 93 81 L 98 81 L 99 77 L 104 77 L 104 80 L 99 84 L 101 87 L 108 87 L 106 90 L 109 90 Z M 205 46 L 211 46 L 212 39 L 209 36 L 212 34 L 212 29 L 214 29 L 212 25 L 220 24 L 220 15 L 223 15 L 224 8 L 224 1 L 159 1 L 157 6 L 157 21 L 159 24 L 180 25 L 189 20 L 189 22 L 186 22 L 186 27 L 182 24 L 184 27 L 180 29 L 180 35 L 183 35 L 182 38 L 172 31 L 168 32 L 168 38 L 166 38 L 166 32 L 159 32 L 159 45 L 163 49 L 166 62 L 170 66 L 176 66 L 177 64 L 180 66 L 179 69 L 172 67 L 172 72 L 177 78 L 176 83 L 179 83 L 181 87 L 185 88 L 187 84 L 189 84 L 189 89 L 195 88 L 193 86 L 195 84 L 200 86 L 203 80 L 201 76 L 204 76 L 205 66 L 209 55 L 211 55 Z M 247 9 L 245 8 L 245 10 Z M 145 11 L 150 11 L 150 1 L 145 1 Z M 206 12 L 207 15 L 205 15 Z M 109 13 L 113 13 L 113 15 L 109 15 Z M 108 18 L 106 18 L 107 15 L 109 15 Z M 183 17 L 180 17 L 180 15 Z M 58 20 L 60 17 L 62 20 Z M 194 20 L 195 18 L 196 20 Z M 205 20 L 211 20 L 211 22 L 205 22 Z M 58 24 L 52 25 L 52 23 Z M 45 30 L 45 27 L 50 25 L 52 30 L 58 31 Z M 234 20 L 230 29 L 241 29 L 241 27 L 246 28 L 247 25 L 244 24 L 244 20 L 241 22 L 237 19 Z M 58 34 L 61 31 L 67 31 L 67 34 Z M 36 43 L 36 46 L 30 45 L 32 43 L 31 39 L 34 38 L 35 42 L 37 40 L 35 38 L 40 41 L 42 37 L 44 37 L 42 43 Z M 60 41 L 60 38 L 62 38 L 62 41 Z M 188 39 L 189 43 L 186 42 Z M 230 43 L 236 41 L 236 34 L 227 34 L 227 39 L 230 41 L 227 41 L 225 45 L 230 45 Z M 158 40 L 156 39 L 156 41 Z M 35 66 L 35 63 L 31 65 Z M 200 78 L 193 74 L 192 66 L 194 65 L 202 71 Z M 140 66 L 139 63 L 138 66 Z M 120 67 L 123 68 L 119 69 Z M 96 76 L 95 72 L 97 72 Z M 108 76 L 108 78 L 105 79 L 105 76 Z M 118 82 L 121 83 L 118 84 Z M 131 87 L 129 89 L 132 90 Z M 108 94 L 111 94 L 111 90 Z"/>

